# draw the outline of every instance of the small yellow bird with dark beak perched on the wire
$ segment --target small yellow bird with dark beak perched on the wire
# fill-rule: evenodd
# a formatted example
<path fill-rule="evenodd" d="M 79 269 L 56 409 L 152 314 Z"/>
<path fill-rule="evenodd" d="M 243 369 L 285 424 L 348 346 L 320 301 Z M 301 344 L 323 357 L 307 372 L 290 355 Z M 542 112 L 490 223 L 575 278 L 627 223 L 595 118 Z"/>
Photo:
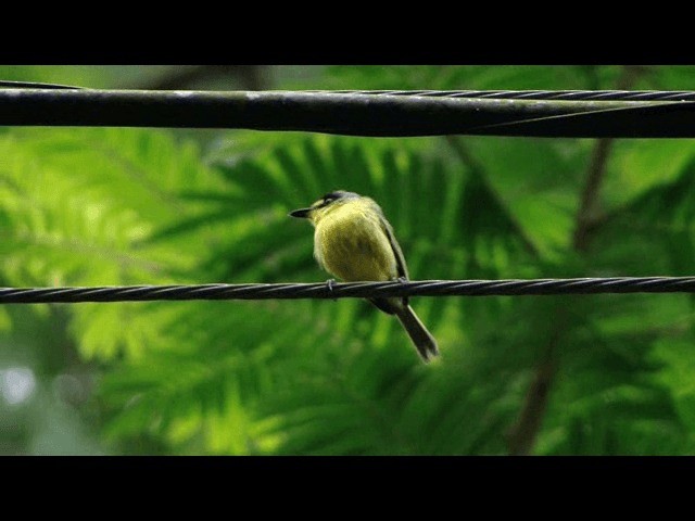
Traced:
<path fill-rule="evenodd" d="M 371 199 L 338 190 L 327 193 L 291 217 L 314 225 L 314 257 L 329 274 L 346 281 L 407 280 L 408 269 L 393 228 Z M 395 315 L 425 361 L 439 355 L 437 341 L 405 298 L 369 298 L 375 306 Z"/>

